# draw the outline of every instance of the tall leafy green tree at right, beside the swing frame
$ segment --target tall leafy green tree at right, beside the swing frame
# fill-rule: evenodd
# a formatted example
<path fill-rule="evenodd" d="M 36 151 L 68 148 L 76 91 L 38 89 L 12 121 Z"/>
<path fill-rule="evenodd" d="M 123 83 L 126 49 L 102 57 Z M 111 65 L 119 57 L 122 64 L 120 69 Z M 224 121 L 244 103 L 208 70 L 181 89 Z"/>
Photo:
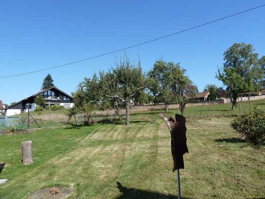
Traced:
<path fill-rule="evenodd" d="M 218 68 L 216 78 L 226 86 L 227 94 L 235 109 L 239 93 L 253 92 L 258 88 L 254 74 L 258 67 L 258 54 L 251 44 L 233 44 L 224 52 L 224 66 Z"/>

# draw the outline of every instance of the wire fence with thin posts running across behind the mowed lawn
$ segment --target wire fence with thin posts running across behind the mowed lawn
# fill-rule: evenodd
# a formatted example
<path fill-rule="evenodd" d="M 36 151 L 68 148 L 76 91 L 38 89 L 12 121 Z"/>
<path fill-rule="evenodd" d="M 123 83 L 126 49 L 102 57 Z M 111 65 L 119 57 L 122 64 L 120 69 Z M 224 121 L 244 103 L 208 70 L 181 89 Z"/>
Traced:
<path fill-rule="evenodd" d="M 258 107 L 265 110 L 265 95 L 255 94 L 242 94 L 239 97 L 238 104 L 235 110 L 232 110 L 232 103 L 227 99 L 216 101 L 188 101 L 184 110 L 186 118 L 208 118 L 208 117 L 233 117 L 238 116 L 245 111 L 253 110 Z M 174 116 L 176 113 L 181 114 L 180 105 L 178 103 L 168 104 L 169 112 L 165 113 L 168 116 Z M 130 120 L 155 120 L 160 119 L 160 112 L 165 112 L 165 104 L 150 104 L 142 106 L 130 107 Z M 41 128 L 57 127 L 66 124 L 90 124 L 95 122 L 108 122 L 108 121 L 124 121 L 126 118 L 126 111 L 124 107 L 120 107 L 115 111 L 114 107 L 107 110 L 100 110 L 99 106 L 95 106 L 91 110 L 91 114 L 87 115 L 79 113 L 71 118 L 67 117 L 65 111 L 30 111 L 32 117 L 38 122 Z M 27 129 L 27 113 L 20 114 L 15 117 L 1 117 L 0 130 L 8 128 Z M 22 126 L 21 121 L 25 121 Z M 19 123 L 19 124 L 18 124 Z M 29 128 L 39 128 L 36 122 L 30 117 Z"/>

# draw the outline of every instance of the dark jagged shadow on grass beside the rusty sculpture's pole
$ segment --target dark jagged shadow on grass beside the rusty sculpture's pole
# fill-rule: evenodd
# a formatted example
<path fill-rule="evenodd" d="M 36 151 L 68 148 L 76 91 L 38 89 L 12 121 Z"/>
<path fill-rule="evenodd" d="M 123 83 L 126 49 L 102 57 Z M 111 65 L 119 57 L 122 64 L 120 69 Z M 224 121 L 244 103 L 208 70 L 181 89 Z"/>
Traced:
<path fill-rule="evenodd" d="M 123 187 L 120 182 L 117 182 L 117 188 L 122 193 L 122 196 L 117 197 L 116 199 L 177 199 L 178 196 L 174 195 L 165 195 L 159 192 L 144 191 L 141 189 L 127 188 Z M 190 199 L 183 198 L 182 199 Z"/>

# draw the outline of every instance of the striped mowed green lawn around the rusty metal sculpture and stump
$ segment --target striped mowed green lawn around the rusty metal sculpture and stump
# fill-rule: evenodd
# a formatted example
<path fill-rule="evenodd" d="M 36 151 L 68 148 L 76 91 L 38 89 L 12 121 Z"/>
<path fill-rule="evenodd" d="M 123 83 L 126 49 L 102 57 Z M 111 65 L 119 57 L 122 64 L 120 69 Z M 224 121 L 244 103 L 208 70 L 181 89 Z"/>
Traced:
<path fill-rule="evenodd" d="M 265 197 L 265 149 L 241 140 L 232 118 L 187 119 L 183 199 Z M 170 133 L 163 120 L 98 123 L 0 136 L 0 199 L 25 199 L 56 186 L 74 186 L 72 199 L 177 198 Z M 32 140 L 34 163 L 21 164 Z"/>

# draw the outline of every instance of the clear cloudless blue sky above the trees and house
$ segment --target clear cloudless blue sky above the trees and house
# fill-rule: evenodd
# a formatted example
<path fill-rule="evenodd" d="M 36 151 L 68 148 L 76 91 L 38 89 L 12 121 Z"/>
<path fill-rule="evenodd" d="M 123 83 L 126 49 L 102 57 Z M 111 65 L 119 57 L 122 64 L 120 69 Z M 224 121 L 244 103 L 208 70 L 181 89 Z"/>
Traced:
<path fill-rule="evenodd" d="M 265 4 L 264 0 L 12 0 L 0 2 L 0 77 L 40 70 L 156 39 Z M 180 63 L 202 91 L 224 51 L 253 44 L 265 55 L 265 7 L 127 50 L 143 70 L 160 58 Z M 0 79 L 0 100 L 18 102 L 40 91 L 50 73 L 70 94 L 84 77 L 107 70 L 124 51 L 74 65 Z"/>

